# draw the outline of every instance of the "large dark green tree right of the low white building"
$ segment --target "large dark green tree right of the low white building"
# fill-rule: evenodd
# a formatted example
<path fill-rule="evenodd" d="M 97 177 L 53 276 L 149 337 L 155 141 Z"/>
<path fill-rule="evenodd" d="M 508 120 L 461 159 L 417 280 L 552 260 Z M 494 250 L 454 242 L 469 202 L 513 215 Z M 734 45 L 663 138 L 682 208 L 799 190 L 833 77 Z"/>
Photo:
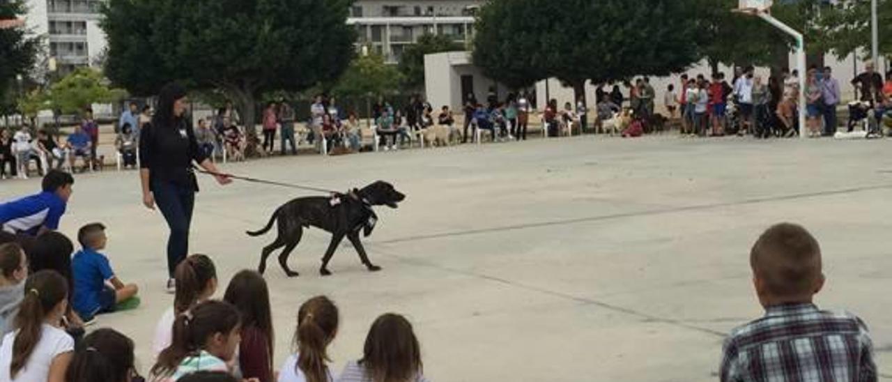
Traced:
<path fill-rule="evenodd" d="M 663 76 L 698 61 L 698 0 L 514 0 L 481 8 L 474 62 L 524 87 L 556 77 L 584 103 L 587 80 Z"/>

